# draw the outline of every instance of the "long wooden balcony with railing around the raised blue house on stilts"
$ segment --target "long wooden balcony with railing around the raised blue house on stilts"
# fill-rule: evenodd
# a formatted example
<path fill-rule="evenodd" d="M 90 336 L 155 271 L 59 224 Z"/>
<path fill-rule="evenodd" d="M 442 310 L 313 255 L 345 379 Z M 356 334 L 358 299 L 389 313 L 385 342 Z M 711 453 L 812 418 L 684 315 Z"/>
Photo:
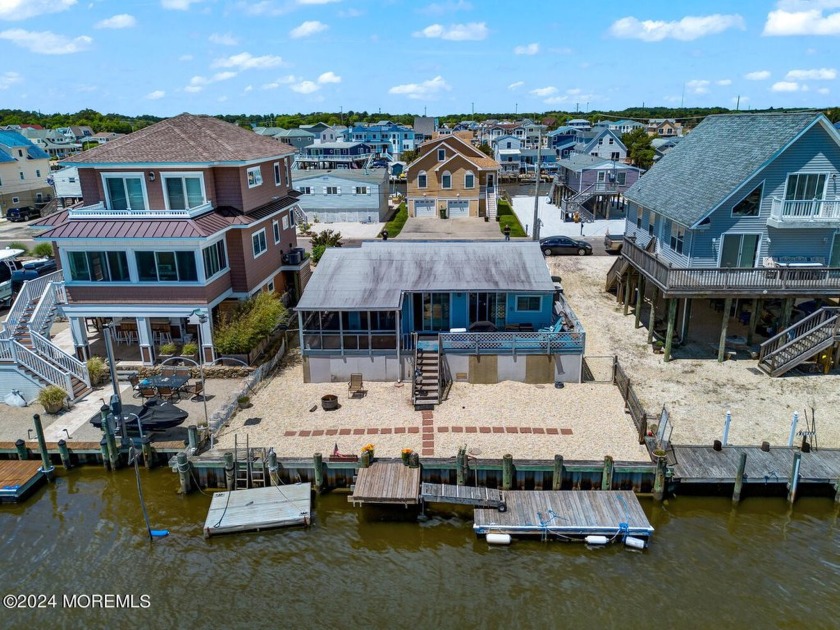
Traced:
<path fill-rule="evenodd" d="M 837 267 L 671 267 L 625 239 L 621 255 L 665 297 L 810 297 L 840 292 Z"/>

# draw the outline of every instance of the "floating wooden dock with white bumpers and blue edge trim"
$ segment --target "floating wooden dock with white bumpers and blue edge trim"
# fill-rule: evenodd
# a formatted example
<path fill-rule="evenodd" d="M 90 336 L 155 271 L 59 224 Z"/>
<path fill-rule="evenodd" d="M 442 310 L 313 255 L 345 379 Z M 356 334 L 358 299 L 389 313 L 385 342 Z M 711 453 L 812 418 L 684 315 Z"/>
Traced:
<path fill-rule="evenodd" d="M 632 536 L 649 537 L 653 527 L 630 490 L 505 492 L 507 511 L 475 510 L 476 534 L 511 534 L 544 538 L 617 536 L 627 524 Z"/>

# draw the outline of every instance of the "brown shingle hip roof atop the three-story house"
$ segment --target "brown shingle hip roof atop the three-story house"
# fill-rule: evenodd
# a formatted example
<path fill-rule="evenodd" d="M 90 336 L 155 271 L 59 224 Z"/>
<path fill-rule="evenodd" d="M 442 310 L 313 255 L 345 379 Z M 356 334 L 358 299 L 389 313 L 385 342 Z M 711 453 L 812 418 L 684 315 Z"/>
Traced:
<path fill-rule="evenodd" d="M 63 164 L 218 164 L 268 159 L 294 149 L 212 116 L 181 114 L 67 158 Z"/>

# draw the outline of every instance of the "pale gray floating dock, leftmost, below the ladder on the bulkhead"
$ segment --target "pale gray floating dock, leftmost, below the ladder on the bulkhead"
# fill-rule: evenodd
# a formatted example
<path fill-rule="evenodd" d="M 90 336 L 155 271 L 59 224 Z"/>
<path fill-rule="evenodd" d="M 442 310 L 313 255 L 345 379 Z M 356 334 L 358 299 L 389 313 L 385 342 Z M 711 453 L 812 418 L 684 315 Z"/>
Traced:
<path fill-rule="evenodd" d="M 312 487 L 307 483 L 217 492 L 204 521 L 204 537 L 308 525 Z"/>

